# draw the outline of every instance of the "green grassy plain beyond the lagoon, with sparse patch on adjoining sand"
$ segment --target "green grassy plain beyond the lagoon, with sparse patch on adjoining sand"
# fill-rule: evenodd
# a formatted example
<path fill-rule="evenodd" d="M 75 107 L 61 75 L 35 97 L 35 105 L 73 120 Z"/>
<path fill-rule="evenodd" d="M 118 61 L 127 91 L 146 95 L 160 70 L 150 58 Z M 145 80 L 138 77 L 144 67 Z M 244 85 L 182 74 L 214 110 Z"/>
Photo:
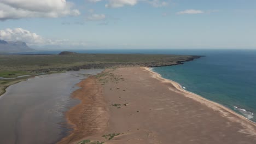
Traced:
<path fill-rule="evenodd" d="M 96 77 L 105 85 L 108 81 L 124 81 L 121 76 L 111 73 L 117 67 L 153 67 L 173 65 L 189 61 L 198 56 L 182 55 L 143 55 L 143 54 L 81 54 L 65 52 L 64 55 L 0 55 L 0 77 L 16 78 L 0 79 L 0 95 L 5 88 L 14 83 L 24 81 L 37 74 L 62 73 L 67 70 L 112 68 Z M 19 77 L 18 76 L 24 76 Z M 109 79 L 106 79 L 106 76 Z"/>

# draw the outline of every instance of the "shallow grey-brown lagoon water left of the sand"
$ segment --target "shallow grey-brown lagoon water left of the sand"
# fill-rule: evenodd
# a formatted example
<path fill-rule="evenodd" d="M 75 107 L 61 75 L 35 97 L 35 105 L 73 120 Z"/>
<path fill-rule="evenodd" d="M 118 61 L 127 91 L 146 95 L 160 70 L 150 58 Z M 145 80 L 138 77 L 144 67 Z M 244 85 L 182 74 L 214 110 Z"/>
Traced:
<path fill-rule="evenodd" d="M 55 143 L 67 135 L 65 111 L 79 101 L 71 99 L 86 74 L 102 69 L 41 75 L 7 88 L 0 97 L 0 143 Z"/>

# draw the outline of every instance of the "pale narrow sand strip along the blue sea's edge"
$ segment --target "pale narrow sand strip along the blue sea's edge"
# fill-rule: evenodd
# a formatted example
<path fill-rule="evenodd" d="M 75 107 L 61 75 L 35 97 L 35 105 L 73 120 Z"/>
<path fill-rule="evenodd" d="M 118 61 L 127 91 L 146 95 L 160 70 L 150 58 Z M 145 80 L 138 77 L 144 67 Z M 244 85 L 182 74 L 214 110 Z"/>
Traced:
<path fill-rule="evenodd" d="M 206 106 L 212 108 L 215 111 L 220 111 L 220 115 L 221 116 L 226 117 L 225 116 L 226 115 L 225 111 L 227 111 L 227 112 L 232 113 L 232 115 L 235 115 L 236 117 L 239 117 L 239 118 L 245 120 L 246 122 L 248 122 L 248 123 L 250 123 L 250 124 L 252 124 L 252 125 L 254 125 L 256 127 L 256 123 L 255 122 L 250 121 L 249 119 L 247 119 L 246 117 L 236 113 L 235 111 L 230 110 L 228 107 L 225 107 L 225 106 L 223 106 L 223 105 L 221 105 L 219 103 L 216 103 L 214 101 L 211 101 L 211 100 L 208 100 L 206 98 L 203 98 L 200 95 L 195 94 L 193 92 L 189 92 L 189 91 L 183 89 L 182 86 L 178 82 L 170 80 L 170 79 L 165 79 L 164 77 L 161 76 L 161 74 L 156 73 L 155 71 L 151 70 L 148 67 L 142 67 L 142 68 L 147 70 L 150 74 L 152 74 L 152 77 L 154 77 L 155 79 L 158 79 L 158 80 L 160 80 L 162 82 L 171 83 L 178 91 L 184 93 L 185 97 L 188 97 L 188 98 L 191 98 L 193 100 L 196 100 L 196 101 L 198 101 L 201 104 L 206 104 Z M 185 94 L 188 94 L 188 95 L 185 95 Z M 225 111 L 223 111 L 221 109 L 223 109 Z M 230 117 L 226 117 L 226 118 L 229 118 L 233 122 L 238 122 L 238 123 L 241 123 L 243 126 L 248 127 L 248 125 L 246 123 L 241 122 L 239 119 L 233 119 L 233 118 L 230 118 Z M 253 135 L 256 136 L 256 131 L 254 131 Z"/>

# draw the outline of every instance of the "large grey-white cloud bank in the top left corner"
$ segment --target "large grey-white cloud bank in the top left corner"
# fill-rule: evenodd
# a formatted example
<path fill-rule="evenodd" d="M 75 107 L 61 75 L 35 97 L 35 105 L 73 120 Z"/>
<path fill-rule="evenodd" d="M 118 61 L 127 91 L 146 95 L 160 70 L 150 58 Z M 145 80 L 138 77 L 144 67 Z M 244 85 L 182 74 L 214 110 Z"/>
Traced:
<path fill-rule="evenodd" d="M 80 15 L 73 7 L 66 0 L 0 0 L 0 20 Z"/>

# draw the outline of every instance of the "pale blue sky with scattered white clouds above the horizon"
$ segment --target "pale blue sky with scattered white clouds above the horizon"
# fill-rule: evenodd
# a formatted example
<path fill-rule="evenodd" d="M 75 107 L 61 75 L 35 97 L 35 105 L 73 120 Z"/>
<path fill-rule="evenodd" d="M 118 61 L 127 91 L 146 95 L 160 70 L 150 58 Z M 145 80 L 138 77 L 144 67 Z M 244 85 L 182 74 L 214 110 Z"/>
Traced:
<path fill-rule="evenodd" d="M 256 49 L 255 0 L 0 0 L 0 39 L 34 49 Z"/>

